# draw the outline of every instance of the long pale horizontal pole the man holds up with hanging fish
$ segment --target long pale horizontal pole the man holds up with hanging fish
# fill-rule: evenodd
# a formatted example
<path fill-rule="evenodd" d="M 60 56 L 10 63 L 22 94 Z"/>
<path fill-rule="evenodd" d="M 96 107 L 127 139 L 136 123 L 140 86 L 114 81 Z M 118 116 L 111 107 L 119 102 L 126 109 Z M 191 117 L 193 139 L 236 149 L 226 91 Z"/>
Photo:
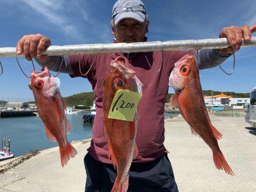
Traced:
<path fill-rule="evenodd" d="M 200 40 L 151 41 L 141 43 L 80 44 L 63 46 L 51 45 L 43 54 L 53 56 L 96 53 L 134 53 L 210 48 L 219 49 L 226 47 L 229 47 L 228 40 L 226 38 L 217 38 Z M 242 47 L 256 47 L 256 36 L 251 37 L 249 42 L 242 41 Z M 0 58 L 3 57 L 16 57 L 16 48 L 0 48 Z"/>

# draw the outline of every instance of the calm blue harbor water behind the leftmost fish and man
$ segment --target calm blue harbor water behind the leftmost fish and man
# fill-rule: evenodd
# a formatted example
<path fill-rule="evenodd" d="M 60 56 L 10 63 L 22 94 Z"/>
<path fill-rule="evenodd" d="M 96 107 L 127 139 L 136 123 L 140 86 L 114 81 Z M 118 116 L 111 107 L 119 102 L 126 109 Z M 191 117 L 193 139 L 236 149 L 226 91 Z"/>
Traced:
<path fill-rule="evenodd" d="M 82 119 L 84 114 L 66 115 L 73 126 L 73 130 L 68 134 L 69 142 L 88 139 L 92 136 L 93 123 L 84 123 Z M 171 113 L 164 114 L 165 117 L 176 115 Z M 6 141 L 10 138 L 11 152 L 15 157 L 22 156 L 31 150 L 58 146 L 56 142 L 47 139 L 44 124 L 38 116 L 0 118 L 0 139 L 2 138 L 5 138 Z"/>

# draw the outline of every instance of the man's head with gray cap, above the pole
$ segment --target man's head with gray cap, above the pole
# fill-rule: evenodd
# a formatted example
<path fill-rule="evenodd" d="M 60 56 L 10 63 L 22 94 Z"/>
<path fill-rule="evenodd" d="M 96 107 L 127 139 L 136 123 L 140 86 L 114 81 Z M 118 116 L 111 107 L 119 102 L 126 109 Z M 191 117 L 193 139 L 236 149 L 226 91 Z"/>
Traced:
<path fill-rule="evenodd" d="M 140 0 L 118 0 L 112 10 L 112 34 L 117 43 L 142 42 L 148 32 L 146 9 Z"/>

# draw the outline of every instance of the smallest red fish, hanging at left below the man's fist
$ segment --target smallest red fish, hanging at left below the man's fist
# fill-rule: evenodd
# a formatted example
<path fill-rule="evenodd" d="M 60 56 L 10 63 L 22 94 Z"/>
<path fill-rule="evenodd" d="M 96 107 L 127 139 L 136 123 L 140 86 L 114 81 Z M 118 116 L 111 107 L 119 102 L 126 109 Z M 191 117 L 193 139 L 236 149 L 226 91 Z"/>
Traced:
<path fill-rule="evenodd" d="M 51 76 L 47 66 L 44 66 L 43 71 L 32 70 L 29 87 L 33 92 L 39 117 L 44 123 L 47 138 L 59 144 L 60 162 L 64 167 L 69 157 L 77 155 L 77 151 L 67 140 L 67 133 L 71 132 L 72 125 L 65 117 L 67 106 L 60 94 L 60 80 Z"/>

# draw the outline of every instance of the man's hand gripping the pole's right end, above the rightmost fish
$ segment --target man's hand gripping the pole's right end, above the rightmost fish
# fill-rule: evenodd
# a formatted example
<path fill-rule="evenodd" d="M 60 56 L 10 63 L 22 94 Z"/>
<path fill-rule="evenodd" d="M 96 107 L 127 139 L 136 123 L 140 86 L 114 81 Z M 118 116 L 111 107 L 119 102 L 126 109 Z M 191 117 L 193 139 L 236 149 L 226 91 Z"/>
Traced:
<path fill-rule="evenodd" d="M 238 49 L 240 49 L 242 44 L 242 38 L 244 41 L 250 41 L 251 34 L 253 34 L 255 31 L 256 31 L 256 24 L 254 24 L 251 27 L 230 26 L 230 27 L 223 28 L 220 32 L 220 37 L 226 37 L 228 39 L 229 44 L 232 47 L 218 49 L 218 50 L 224 54 L 232 54 L 234 51 L 237 51 Z"/>

